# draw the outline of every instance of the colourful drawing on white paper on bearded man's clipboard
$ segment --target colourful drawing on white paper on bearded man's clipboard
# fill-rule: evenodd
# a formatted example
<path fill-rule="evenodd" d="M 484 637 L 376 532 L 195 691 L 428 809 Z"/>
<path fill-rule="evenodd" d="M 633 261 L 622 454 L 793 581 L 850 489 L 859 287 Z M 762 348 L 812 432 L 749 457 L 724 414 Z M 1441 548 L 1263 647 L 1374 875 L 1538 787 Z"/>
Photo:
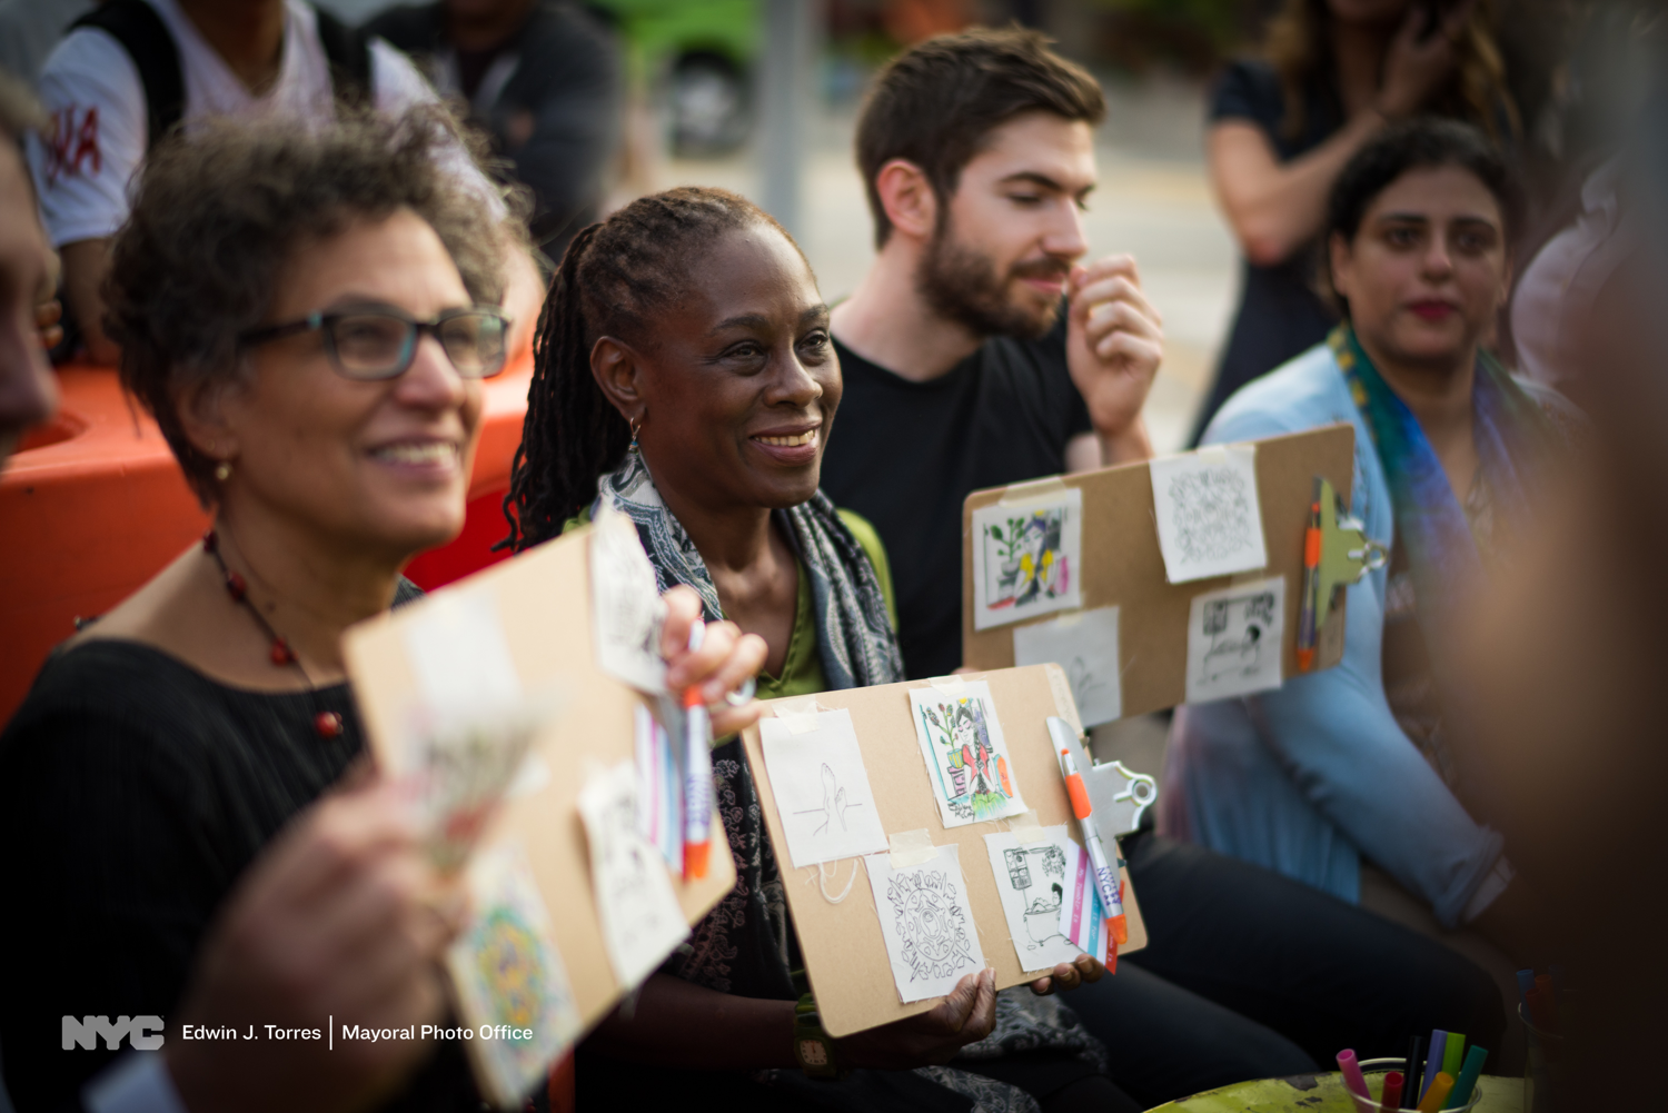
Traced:
<path fill-rule="evenodd" d="M 1083 606 L 1083 492 L 972 512 L 972 627 Z"/>

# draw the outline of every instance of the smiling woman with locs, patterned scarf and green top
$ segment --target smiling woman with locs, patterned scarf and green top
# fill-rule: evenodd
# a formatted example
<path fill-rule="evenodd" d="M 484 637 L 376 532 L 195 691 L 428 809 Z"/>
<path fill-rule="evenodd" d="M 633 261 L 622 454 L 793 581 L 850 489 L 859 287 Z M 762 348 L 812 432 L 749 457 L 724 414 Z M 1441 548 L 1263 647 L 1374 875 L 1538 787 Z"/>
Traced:
<path fill-rule="evenodd" d="M 637 526 L 662 591 L 694 587 L 707 621 L 764 639 L 761 696 L 904 677 L 881 541 L 817 489 L 839 357 L 776 220 L 716 189 L 632 202 L 567 249 L 534 354 L 507 499 L 517 547 L 609 506 Z M 716 736 L 736 888 L 582 1045 L 582 1108 L 1138 1108 L 1099 1041 L 1041 996 L 1099 978 L 1089 956 L 1001 995 L 991 971 L 967 975 L 927 1013 L 827 1036 L 752 773 Z"/>

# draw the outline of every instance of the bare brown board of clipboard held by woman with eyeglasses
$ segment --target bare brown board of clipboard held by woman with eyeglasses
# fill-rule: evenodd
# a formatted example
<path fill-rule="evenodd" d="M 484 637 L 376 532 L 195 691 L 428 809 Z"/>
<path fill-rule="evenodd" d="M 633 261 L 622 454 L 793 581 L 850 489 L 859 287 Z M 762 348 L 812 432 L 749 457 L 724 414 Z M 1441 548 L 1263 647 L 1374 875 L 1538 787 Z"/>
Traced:
<path fill-rule="evenodd" d="M 615 980 L 602 943 L 579 793 L 590 769 L 632 761 L 636 711 L 652 706 L 597 667 L 590 639 L 587 536 L 589 529 L 569 531 L 442 587 L 429 599 L 360 622 L 344 637 L 354 696 L 370 749 L 384 766 L 397 764 L 392 748 L 419 701 L 402 629 L 442 596 L 469 592 L 489 599 L 522 691 L 552 699 L 554 718 L 532 739 L 532 758 L 542 763 L 547 776 L 522 778 L 512 786 L 482 843 L 514 836 L 525 848 L 585 1030 L 632 986 Z M 717 816 L 712 818 L 712 841 L 721 848 L 729 844 Z M 729 854 L 714 853 L 704 879 L 684 884 L 676 873 L 667 871 L 667 876 L 684 919 L 694 924 L 734 888 L 736 863 Z"/>

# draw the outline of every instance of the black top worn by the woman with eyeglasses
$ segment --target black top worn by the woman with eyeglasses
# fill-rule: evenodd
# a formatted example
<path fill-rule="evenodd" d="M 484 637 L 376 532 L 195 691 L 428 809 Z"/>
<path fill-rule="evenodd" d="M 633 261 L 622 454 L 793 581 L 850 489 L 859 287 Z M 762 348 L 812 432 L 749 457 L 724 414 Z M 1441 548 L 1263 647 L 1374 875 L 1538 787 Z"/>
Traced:
<path fill-rule="evenodd" d="M 342 716 L 337 738 L 319 738 L 320 711 Z M 160 1016 L 180 1038 L 220 903 L 364 748 L 347 684 L 230 687 L 117 639 L 47 661 L 0 734 L 0 1056 L 18 1113 L 73 1108 L 115 1058 L 102 1041 L 65 1051 L 65 1015 Z M 460 1048 L 442 1045 L 394 1108 L 479 1110 Z"/>

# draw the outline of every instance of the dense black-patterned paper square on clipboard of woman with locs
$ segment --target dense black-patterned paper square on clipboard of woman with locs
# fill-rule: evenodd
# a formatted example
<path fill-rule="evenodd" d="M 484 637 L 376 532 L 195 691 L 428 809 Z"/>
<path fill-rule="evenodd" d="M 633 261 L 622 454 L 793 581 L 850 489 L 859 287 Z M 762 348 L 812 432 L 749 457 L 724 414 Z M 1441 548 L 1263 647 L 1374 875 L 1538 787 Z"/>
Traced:
<path fill-rule="evenodd" d="M 869 854 L 862 861 L 904 1005 L 944 996 L 957 981 L 984 969 L 954 843 L 902 869 L 892 869 L 891 854 Z"/>

